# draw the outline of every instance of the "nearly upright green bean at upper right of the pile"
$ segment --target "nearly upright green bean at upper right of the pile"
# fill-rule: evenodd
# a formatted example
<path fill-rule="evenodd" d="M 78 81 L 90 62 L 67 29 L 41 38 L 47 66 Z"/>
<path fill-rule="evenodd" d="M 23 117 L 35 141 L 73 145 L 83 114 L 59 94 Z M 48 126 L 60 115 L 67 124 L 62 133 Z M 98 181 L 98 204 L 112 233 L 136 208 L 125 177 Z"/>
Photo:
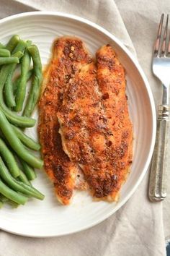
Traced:
<path fill-rule="evenodd" d="M 27 103 L 23 111 L 23 116 L 31 116 L 32 111 L 34 111 L 34 108 L 40 96 L 40 85 L 42 82 L 42 64 L 38 48 L 37 46 L 30 46 L 28 47 L 28 51 L 30 52 L 30 55 L 32 57 L 34 73 L 32 77 L 32 87 L 30 90 L 30 95 L 27 99 Z"/>

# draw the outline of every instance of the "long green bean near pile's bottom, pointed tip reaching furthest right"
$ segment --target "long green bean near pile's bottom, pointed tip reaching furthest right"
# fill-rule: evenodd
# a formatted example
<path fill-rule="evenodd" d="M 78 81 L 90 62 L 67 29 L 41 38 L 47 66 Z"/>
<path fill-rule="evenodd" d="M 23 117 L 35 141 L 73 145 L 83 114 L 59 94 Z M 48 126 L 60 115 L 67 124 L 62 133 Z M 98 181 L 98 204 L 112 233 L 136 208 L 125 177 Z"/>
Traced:
<path fill-rule="evenodd" d="M 1 179 L 3 179 L 4 182 L 6 182 L 6 184 L 9 185 L 9 187 L 14 189 L 16 192 L 22 192 L 24 195 L 35 197 L 40 200 L 44 198 L 44 196 L 39 191 L 37 191 L 37 189 L 35 189 L 34 187 L 15 180 L 11 176 L 11 174 L 9 174 L 9 171 L 4 165 L 4 162 L 2 161 L 1 158 L 0 158 L 0 176 L 1 176 Z"/>

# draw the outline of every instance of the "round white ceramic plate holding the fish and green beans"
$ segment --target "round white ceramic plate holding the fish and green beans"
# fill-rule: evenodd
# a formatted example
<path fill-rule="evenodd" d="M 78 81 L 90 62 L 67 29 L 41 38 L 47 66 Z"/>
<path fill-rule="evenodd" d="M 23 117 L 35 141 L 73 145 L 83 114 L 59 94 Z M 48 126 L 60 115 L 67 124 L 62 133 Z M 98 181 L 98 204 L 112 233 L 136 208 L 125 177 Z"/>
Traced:
<path fill-rule="evenodd" d="M 138 61 L 127 48 L 102 27 L 68 14 L 28 12 L 0 21 L 0 41 L 14 34 L 30 39 L 40 49 L 42 64 L 47 64 L 53 40 L 61 35 L 76 35 L 86 43 L 91 54 L 105 43 L 117 52 L 127 72 L 128 102 L 134 125 L 134 158 L 131 174 L 122 187 L 117 203 L 93 202 L 86 192 L 76 192 L 69 206 L 61 206 L 53 194 L 53 185 L 44 171 L 37 171 L 33 184 L 45 194 L 45 200 L 30 200 L 17 209 L 7 206 L 0 211 L 0 228 L 23 236 L 61 236 L 87 229 L 111 216 L 133 195 L 151 161 L 156 135 L 156 114 L 151 89 Z M 36 115 L 37 117 L 37 115 Z M 35 137 L 36 129 L 27 133 Z"/>

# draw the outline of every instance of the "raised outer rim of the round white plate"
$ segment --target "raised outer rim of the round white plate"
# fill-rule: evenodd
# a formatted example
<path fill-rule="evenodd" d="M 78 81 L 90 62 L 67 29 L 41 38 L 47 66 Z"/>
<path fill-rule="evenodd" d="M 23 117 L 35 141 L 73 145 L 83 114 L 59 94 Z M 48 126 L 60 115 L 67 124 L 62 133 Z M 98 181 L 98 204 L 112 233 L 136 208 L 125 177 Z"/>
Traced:
<path fill-rule="evenodd" d="M 146 163 L 145 166 L 143 168 L 143 170 L 140 173 L 140 176 L 138 177 L 137 182 L 135 183 L 135 185 L 133 186 L 133 188 L 130 190 L 130 192 L 128 193 L 128 195 L 124 198 L 124 200 L 122 200 L 122 202 L 120 202 L 120 204 L 118 205 L 118 207 L 116 206 L 113 210 L 109 211 L 109 213 L 105 214 L 104 217 L 99 218 L 97 221 L 94 221 L 93 223 L 90 223 L 89 225 L 82 226 L 82 228 L 76 228 L 74 231 L 68 231 L 68 232 L 63 232 L 61 234 L 27 234 L 27 232 L 24 232 L 24 234 L 22 232 L 17 232 L 17 231 L 11 231 L 10 229 L 5 229 L 4 227 L 0 227 L 1 230 L 7 231 L 11 234 L 17 234 L 19 236 L 29 236 L 29 237 L 37 237 L 37 238 L 45 238 L 45 237 L 57 237 L 57 236 L 65 236 L 65 235 L 69 235 L 69 234 L 75 234 L 77 232 L 80 231 L 84 231 L 86 229 L 89 229 L 93 226 L 96 226 L 97 224 L 101 223 L 102 221 L 106 220 L 107 218 L 109 218 L 110 216 L 112 216 L 115 212 L 117 212 L 117 210 L 119 210 L 122 205 L 125 205 L 125 202 L 127 202 L 130 197 L 133 195 L 133 193 L 135 192 L 135 190 L 138 188 L 140 182 L 142 182 L 143 177 L 146 175 L 146 172 L 148 170 L 149 164 L 151 163 L 151 157 L 153 154 L 153 149 L 154 149 L 154 145 L 155 145 L 155 140 L 156 140 L 156 106 L 155 106 L 155 102 L 153 99 L 153 93 L 151 91 L 148 79 L 146 77 L 146 74 L 143 72 L 142 67 L 140 67 L 140 64 L 138 62 L 138 59 L 133 56 L 133 54 L 130 52 L 130 50 L 128 50 L 128 48 L 121 42 L 120 39 L 118 39 L 115 35 L 112 35 L 112 33 L 109 33 L 108 30 L 106 30 L 104 27 L 101 27 L 100 25 L 97 25 L 94 22 L 91 22 L 90 20 L 87 20 L 85 18 L 79 17 L 77 15 L 73 15 L 73 14 L 67 14 L 64 12 L 41 12 L 41 11 L 36 11 L 36 12 L 22 12 L 19 14 L 14 14 L 14 15 L 10 15 L 9 17 L 4 17 L 3 19 L 0 20 L 0 25 L 3 24 L 4 22 L 8 22 L 11 20 L 15 20 L 19 17 L 27 17 L 27 16 L 43 16 L 43 15 L 50 15 L 50 16 L 55 16 L 55 17 L 66 17 L 66 18 L 70 18 L 71 20 L 76 20 L 77 22 L 82 22 L 86 25 L 90 25 L 91 27 L 94 27 L 95 29 L 99 30 L 100 32 L 104 33 L 105 35 L 107 35 L 109 38 L 111 38 L 111 40 L 113 40 L 115 43 L 117 43 L 117 45 L 120 46 L 120 48 L 122 48 L 122 50 L 125 52 L 125 54 L 127 54 L 127 56 L 130 58 L 130 61 L 133 62 L 134 66 L 138 69 L 138 72 L 140 74 L 140 77 L 143 80 L 143 84 L 145 85 L 145 88 L 147 90 L 148 93 L 148 99 L 151 105 L 151 118 L 152 118 L 152 136 L 151 136 L 151 145 L 150 145 L 150 150 L 148 153 L 148 157 L 146 158 Z"/>

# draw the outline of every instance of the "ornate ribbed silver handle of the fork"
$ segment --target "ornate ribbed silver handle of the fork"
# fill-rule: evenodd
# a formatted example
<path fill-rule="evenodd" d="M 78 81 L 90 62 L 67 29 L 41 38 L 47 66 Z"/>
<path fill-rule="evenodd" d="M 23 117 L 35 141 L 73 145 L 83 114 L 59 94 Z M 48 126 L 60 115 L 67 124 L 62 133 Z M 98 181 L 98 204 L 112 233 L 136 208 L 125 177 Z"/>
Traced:
<path fill-rule="evenodd" d="M 166 198 L 169 111 L 169 105 L 158 106 L 156 144 L 153 151 L 148 191 L 149 198 L 153 202 L 159 202 Z"/>

